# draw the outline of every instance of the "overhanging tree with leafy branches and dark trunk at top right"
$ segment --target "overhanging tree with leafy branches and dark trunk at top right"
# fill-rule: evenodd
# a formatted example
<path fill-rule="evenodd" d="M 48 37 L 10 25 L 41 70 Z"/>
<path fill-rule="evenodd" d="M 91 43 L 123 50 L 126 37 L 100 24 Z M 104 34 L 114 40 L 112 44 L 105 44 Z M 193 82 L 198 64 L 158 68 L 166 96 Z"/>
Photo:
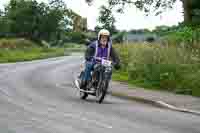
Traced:
<path fill-rule="evenodd" d="M 86 2 L 91 3 L 94 0 L 86 0 Z M 118 12 L 123 12 L 123 9 L 126 4 L 131 4 L 137 7 L 138 9 L 144 11 L 145 13 L 155 13 L 155 15 L 161 14 L 168 8 L 172 8 L 174 3 L 178 0 L 108 0 L 111 7 L 117 6 Z M 200 9 L 199 0 L 180 0 L 183 3 L 184 9 L 184 22 L 192 23 L 193 18 L 193 6 Z"/>

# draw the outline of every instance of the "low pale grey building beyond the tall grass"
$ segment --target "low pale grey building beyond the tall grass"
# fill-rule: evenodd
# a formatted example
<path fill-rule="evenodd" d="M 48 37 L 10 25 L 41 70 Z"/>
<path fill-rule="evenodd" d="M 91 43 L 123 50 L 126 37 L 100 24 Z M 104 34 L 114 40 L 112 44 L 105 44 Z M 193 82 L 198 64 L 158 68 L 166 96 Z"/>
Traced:
<path fill-rule="evenodd" d="M 153 33 L 125 33 L 123 36 L 123 42 L 127 44 L 134 42 L 154 42 L 157 39 L 157 35 Z"/>

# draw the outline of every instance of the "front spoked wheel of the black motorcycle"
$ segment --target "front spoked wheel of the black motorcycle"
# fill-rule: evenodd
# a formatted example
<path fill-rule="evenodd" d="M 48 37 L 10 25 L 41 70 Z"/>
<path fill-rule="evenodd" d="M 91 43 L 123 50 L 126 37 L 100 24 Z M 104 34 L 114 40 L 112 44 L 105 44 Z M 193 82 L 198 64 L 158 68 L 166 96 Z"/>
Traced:
<path fill-rule="evenodd" d="M 96 101 L 101 104 L 106 96 L 108 88 L 108 81 L 102 81 L 96 90 Z"/>

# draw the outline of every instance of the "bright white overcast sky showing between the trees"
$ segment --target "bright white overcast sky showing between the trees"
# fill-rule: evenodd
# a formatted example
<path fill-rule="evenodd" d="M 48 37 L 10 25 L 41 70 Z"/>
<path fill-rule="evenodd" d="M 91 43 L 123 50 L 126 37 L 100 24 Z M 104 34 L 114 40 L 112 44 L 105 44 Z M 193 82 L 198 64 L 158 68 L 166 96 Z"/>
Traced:
<path fill-rule="evenodd" d="M 0 8 L 9 0 L 0 0 Z M 48 1 L 48 0 L 37 0 Z M 69 8 L 88 19 L 88 28 L 93 29 L 97 25 L 99 8 L 104 0 L 96 0 L 92 6 L 88 6 L 85 0 L 64 0 Z M 168 10 L 162 16 L 145 16 L 133 6 L 127 6 L 124 14 L 115 13 L 116 26 L 120 30 L 148 28 L 153 29 L 159 25 L 177 25 L 183 21 L 183 10 L 181 2 L 176 2 L 173 10 Z"/>

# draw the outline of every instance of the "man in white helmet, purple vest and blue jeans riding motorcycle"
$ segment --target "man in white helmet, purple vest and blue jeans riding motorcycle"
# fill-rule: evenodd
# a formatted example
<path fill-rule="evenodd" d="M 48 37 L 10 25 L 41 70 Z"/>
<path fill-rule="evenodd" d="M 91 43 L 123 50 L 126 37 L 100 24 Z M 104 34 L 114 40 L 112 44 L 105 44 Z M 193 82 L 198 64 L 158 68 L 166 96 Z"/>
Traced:
<path fill-rule="evenodd" d="M 85 70 L 81 77 L 81 89 L 86 89 L 88 81 L 91 79 L 91 71 L 94 69 L 96 60 L 94 57 L 111 59 L 114 68 L 120 69 L 120 59 L 112 47 L 112 41 L 110 37 L 110 32 L 106 29 L 102 29 L 98 33 L 98 39 L 89 44 L 85 52 Z"/>

